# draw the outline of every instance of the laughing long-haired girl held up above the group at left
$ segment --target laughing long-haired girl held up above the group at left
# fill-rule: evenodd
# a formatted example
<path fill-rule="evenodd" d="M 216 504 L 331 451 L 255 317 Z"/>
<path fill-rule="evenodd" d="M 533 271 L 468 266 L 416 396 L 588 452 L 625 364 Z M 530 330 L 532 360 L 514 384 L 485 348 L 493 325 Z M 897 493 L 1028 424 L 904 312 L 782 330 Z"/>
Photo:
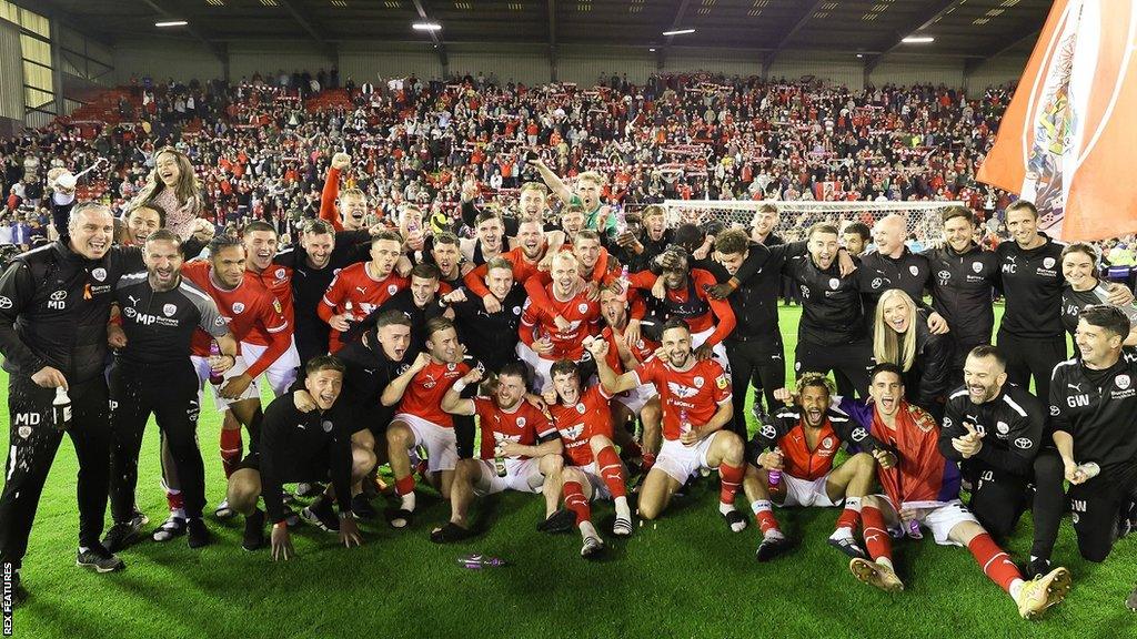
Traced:
<path fill-rule="evenodd" d="M 165 147 L 155 156 L 153 171 L 132 208 L 150 205 L 166 211 L 166 229 L 183 241 L 193 235 L 194 223 L 204 208 L 201 186 L 190 158 L 173 147 Z"/>

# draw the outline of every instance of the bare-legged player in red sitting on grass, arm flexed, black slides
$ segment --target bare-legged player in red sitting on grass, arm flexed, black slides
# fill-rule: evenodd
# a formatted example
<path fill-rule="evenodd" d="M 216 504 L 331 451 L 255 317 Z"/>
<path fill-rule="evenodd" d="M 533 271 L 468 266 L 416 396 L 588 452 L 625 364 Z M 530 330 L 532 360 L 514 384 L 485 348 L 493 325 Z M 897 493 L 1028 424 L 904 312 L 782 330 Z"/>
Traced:
<path fill-rule="evenodd" d="M 492 398 L 463 399 L 466 387 L 482 380 L 481 368 L 474 368 L 442 396 L 442 410 L 478 415 L 482 443 L 478 458 L 458 462 L 450 486 L 450 521 L 431 531 L 431 541 L 446 543 L 471 536 L 466 512 L 474 497 L 503 490 L 540 492 L 546 478 L 559 475 L 564 464 L 561 438 L 549 420 L 525 401 L 526 377 L 525 365 L 512 362 L 498 372 Z M 553 504 L 555 499 L 554 493 Z"/>

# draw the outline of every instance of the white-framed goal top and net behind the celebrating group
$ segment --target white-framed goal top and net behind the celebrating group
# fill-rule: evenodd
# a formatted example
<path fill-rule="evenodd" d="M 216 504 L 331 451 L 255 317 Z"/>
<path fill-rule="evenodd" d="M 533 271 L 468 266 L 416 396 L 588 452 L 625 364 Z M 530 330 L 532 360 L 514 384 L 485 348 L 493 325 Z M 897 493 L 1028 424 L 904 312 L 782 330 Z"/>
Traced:
<path fill-rule="evenodd" d="M 908 236 L 927 244 L 943 235 L 943 211 L 953 206 L 964 206 L 960 201 L 811 201 L 811 200 L 665 200 L 669 226 L 692 223 L 704 226 L 717 221 L 727 226 L 749 229 L 754 214 L 763 205 L 778 207 L 779 223 L 774 233 L 787 242 L 805 239 L 805 232 L 813 224 L 825 222 L 844 231 L 854 222 L 862 222 L 869 229 L 885 217 L 896 214 L 904 217 Z"/>

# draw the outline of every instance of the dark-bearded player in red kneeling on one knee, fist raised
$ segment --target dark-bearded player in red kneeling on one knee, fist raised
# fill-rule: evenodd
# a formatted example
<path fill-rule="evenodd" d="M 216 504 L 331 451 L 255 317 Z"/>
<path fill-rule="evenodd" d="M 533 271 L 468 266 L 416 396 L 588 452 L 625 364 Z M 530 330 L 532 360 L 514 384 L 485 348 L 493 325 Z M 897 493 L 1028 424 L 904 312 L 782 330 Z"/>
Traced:
<path fill-rule="evenodd" d="M 682 320 L 663 325 L 663 355 L 639 368 L 616 375 L 605 355 L 608 345 L 590 345 L 600 382 L 608 395 L 645 383 L 655 385 L 663 405 L 663 446 L 655 466 L 644 480 L 639 514 L 654 520 L 671 497 L 695 473 L 717 468 L 722 480 L 719 512 L 735 532 L 746 528 L 746 518 L 735 508 L 735 495 L 746 472 L 742 440 L 723 426 L 730 423 L 730 379 L 714 359 L 698 359 L 691 349 L 691 331 Z"/>

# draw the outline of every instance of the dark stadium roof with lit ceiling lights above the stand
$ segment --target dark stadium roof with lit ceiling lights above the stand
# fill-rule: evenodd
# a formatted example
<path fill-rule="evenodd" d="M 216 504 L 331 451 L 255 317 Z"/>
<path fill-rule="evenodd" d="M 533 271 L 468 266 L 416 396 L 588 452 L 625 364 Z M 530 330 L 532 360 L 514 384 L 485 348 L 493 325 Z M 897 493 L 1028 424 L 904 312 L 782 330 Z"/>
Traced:
<path fill-rule="evenodd" d="M 447 42 L 912 51 L 989 58 L 1029 51 L 1049 0 L 15 0 L 55 10 L 108 42 L 139 38 L 233 41 Z M 188 20 L 158 28 L 156 22 Z M 434 23 L 438 31 L 416 31 Z M 666 31 L 694 33 L 663 35 Z M 930 35 L 929 44 L 906 44 Z M 437 39 L 437 40 L 435 40 Z"/>

